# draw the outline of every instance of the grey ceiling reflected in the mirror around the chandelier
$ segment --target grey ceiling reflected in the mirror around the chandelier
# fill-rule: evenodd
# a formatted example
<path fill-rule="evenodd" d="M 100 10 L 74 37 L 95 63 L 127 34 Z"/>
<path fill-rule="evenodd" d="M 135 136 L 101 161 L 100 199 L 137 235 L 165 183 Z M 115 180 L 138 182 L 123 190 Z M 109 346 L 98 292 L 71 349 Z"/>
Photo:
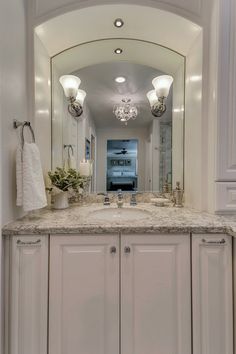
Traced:
<path fill-rule="evenodd" d="M 146 93 L 153 89 L 152 79 L 162 72 L 144 65 L 129 62 L 109 62 L 86 67 L 74 73 L 79 76 L 81 89 L 87 92 L 86 105 L 97 128 L 120 128 L 124 126 L 113 114 L 113 107 L 124 97 L 137 105 L 136 120 L 128 122 L 129 128 L 141 128 L 150 124 L 153 116 Z M 126 82 L 119 84 L 115 78 L 124 76 Z M 167 100 L 167 112 L 162 120 L 171 119 L 172 95 Z"/>

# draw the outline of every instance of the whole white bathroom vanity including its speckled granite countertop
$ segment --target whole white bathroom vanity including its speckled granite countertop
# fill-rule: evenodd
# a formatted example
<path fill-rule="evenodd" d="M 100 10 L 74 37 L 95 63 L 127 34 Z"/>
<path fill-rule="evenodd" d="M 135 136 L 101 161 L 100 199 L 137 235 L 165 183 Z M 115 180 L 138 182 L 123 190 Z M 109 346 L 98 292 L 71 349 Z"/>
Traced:
<path fill-rule="evenodd" d="M 233 218 L 109 208 L 5 227 L 5 353 L 233 354 Z"/>

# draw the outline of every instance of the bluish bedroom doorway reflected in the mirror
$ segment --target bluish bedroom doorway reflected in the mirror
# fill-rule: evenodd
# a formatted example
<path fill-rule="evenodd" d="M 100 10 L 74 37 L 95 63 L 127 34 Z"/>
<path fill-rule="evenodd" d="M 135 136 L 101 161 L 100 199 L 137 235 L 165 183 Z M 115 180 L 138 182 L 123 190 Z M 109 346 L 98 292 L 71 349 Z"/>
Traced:
<path fill-rule="evenodd" d="M 138 140 L 107 140 L 107 191 L 138 186 Z"/>

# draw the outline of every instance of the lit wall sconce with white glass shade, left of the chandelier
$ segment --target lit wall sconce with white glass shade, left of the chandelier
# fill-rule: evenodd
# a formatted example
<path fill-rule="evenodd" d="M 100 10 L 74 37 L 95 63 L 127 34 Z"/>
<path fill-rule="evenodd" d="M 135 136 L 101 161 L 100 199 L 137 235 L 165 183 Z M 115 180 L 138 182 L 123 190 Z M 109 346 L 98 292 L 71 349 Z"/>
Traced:
<path fill-rule="evenodd" d="M 59 79 L 65 96 L 69 101 L 68 112 L 74 117 L 80 117 L 83 113 L 83 104 L 86 92 L 79 90 L 80 78 L 74 75 L 63 75 Z"/>

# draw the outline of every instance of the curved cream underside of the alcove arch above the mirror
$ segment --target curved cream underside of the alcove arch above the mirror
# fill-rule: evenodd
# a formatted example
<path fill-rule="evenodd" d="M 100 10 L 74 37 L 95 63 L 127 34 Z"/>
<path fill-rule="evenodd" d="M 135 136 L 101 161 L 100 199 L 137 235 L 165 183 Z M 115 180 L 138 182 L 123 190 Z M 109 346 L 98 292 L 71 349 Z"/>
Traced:
<path fill-rule="evenodd" d="M 121 17 L 125 25 L 116 28 Z M 151 41 L 186 55 L 201 27 L 173 13 L 139 5 L 109 4 L 68 12 L 35 29 L 50 56 L 80 43 L 105 38 Z"/>

